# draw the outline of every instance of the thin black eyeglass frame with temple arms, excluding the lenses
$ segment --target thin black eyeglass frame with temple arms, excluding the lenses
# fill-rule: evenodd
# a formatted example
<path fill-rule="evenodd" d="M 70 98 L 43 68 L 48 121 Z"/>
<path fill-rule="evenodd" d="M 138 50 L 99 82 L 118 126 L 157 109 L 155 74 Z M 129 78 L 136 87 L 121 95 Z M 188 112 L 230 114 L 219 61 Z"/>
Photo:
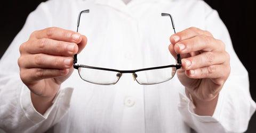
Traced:
<path fill-rule="evenodd" d="M 84 10 L 84 11 L 81 11 L 78 15 L 78 20 L 77 20 L 77 30 L 76 32 L 78 32 L 78 27 L 79 27 L 79 23 L 80 23 L 80 17 L 81 17 L 81 14 L 82 13 L 89 13 L 90 10 Z M 171 18 L 171 22 L 172 22 L 172 27 L 173 27 L 173 30 L 174 30 L 174 33 L 175 32 L 175 26 L 174 26 L 174 22 L 173 22 L 173 19 L 172 19 L 172 16 L 168 13 L 162 13 L 161 14 L 162 16 L 170 16 Z M 132 73 L 133 75 L 133 78 L 134 80 L 136 80 L 139 84 L 141 85 L 152 85 L 152 84 L 159 84 L 159 83 L 163 83 L 163 82 L 166 82 L 166 81 L 169 81 L 170 79 L 172 79 L 172 77 L 175 75 L 173 74 L 173 76 L 170 78 L 170 79 L 166 79 L 166 81 L 163 81 L 163 82 L 159 82 L 159 83 L 152 83 L 152 84 L 145 84 L 145 83 L 140 83 L 138 80 L 137 80 L 137 74 L 135 74 L 136 72 L 140 72 L 140 71 L 143 71 L 143 70 L 153 70 L 153 69 L 162 69 L 162 68 L 168 68 L 168 67 L 175 67 L 176 70 L 175 72 L 177 71 L 177 69 L 180 69 L 181 68 L 181 59 L 180 59 L 180 55 L 178 54 L 177 55 L 177 65 L 167 65 L 167 66 L 158 66 L 158 67 L 149 67 L 149 68 L 142 68 L 142 69 L 136 69 L 136 70 L 117 70 L 117 69 L 110 69 L 110 68 L 102 68 L 102 67 L 93 67 L 93 66 L 87 66 L 87 65 L 76 65 L 77 63 L 77 54 L 74 55 L 74 60 L 73 60 L 73 67 L 75 69 L 79 69 L 79 67 L 84 67 L 84 68 L 90 68 L 90 69 L 98 69 L 98 70 L 107 70 L 107 71 L 112 71 L 112 72 L 118 72 L 118 74 L 116 75 L 117 77 L 119 77 L 117 79 L 117 81 L 115 83 L 110 83 L 110 84 L 101 84 L 101 83 L 94 83 L 94 82 L 90 82 L 90 81 L 86 81 L 85 79 L 83 79 L 81 77 L 81 75 L 79 74 L 79 76 L 86 82 L 90 82 L 90 83 L 93 83 L 93 84 L 99 84 L 99 85 L 114 85 L 116 84 L 120 77 L 122 76 L 122 74 L 124 73 Z"/>

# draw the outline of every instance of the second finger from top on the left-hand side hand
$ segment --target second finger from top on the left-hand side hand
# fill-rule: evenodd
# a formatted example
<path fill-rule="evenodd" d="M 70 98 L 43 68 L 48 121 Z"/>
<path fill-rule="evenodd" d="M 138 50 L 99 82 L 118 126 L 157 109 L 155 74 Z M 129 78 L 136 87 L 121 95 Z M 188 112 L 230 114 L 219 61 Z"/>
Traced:
<path fill-rule="evenodd" d="M 71 56 L 76 54 L 78 46 L 74 42 L 57 41 L 53 39 L 38 39 L 28 41 L 20 46 L 21 54 L 50 54 L 50 55 L 65 55 Z"/>

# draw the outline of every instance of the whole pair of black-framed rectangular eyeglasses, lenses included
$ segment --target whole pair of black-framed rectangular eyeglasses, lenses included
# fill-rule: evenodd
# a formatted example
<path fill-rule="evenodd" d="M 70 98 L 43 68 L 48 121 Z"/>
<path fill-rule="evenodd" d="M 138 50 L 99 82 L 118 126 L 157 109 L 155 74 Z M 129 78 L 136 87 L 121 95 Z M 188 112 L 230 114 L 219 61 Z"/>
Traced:
<path fill-rule="evenodd" d="M 82 13 L 89 13 L 89 10 L 84 10 L 79 13 L 76 32 L 78 32 L 80 17 Z M 162 16 L 170 16 L 172 27 L 175 33 L 175 26 L 172 16 L 167 13 L 162 13 Z M 150 67 L 137 70 L 117 70 L 86 65 L 76 65 L 76 63 L 77 54 L 74 55 L 73 66 L 75 69 L 78 69 L 79 76 L 86 82 L 99 85 L 114 85 L 118 82 L 124 73 L 131 73 L 134 81 L 137 81 L 141 85 L 163 83 L 172 79 L 176 73 L 176 70 L 181 67 L 180 55 L 177 55 L 177 65 Z"/>

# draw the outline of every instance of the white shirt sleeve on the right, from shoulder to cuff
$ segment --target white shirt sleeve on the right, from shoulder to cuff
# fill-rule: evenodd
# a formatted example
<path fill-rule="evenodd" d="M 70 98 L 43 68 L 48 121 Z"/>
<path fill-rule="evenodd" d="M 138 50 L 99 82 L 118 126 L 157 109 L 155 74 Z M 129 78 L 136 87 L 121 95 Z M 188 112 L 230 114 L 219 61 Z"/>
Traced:
<path fill-rule="evenodd" d="M 208 5 L 205 7 L 205 30 L 225 43 L 230 55 L 231 72 L 212 117 L 195 114 L 193 109 L 196 107 L 185 92 L 180 94 L 178 109 L 183 120 L 196 132 L 244 132 L 256 108 L 249 91 L 249 76 L 233 49 L 228 30 L 217 11 Z"/>

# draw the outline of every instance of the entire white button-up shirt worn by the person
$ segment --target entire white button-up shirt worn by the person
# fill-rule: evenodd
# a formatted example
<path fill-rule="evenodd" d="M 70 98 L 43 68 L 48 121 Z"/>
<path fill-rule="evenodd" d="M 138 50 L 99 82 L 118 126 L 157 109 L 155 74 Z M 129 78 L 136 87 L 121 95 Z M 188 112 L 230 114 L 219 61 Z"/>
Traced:
<path fill-rule="evenodd" d="M 175 64 L 168 46 L 173 34 L 190 26 L 210 31 L 226 44 L 231 73 L 212 117 L 198 116 L 177 76 L 156 85 L 139 85 L 124 74 L 115 85 L 83 81 L 77 70 L 61 88 L 44 115 L 31 103 L 19 77 L 19 46 L 35 30 L 50 26 L 88 38 L 78 64 L 132 70 Z M 31 13 L 0 61 L 0 128 L 8 132 L 243 132 L 255 111 L 246 69 L 237 58 L 218 13 L 198 0 L 51 0 Z"/>

